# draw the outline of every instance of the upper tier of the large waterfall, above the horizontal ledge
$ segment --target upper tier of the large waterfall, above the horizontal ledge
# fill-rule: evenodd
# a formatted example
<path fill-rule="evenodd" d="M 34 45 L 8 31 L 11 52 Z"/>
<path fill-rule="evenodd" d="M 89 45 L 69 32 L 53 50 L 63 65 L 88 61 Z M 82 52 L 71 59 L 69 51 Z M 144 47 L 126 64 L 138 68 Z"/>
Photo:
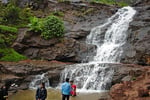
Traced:
<path fill-rule="evenodd" d="M 119 9 L 106 23 L 92 29 L 87 37 L 87 43 L 97 46 L 94 62 L 120 62 L 120 57 L 123 53 L 122 46 L 126 43 L 128 35 L 126 31 L 135 13 L 136 11 L 131 7 L 124 7 Z M 103 44 L 99 43 L 101 34 L 105 34 Z"/>

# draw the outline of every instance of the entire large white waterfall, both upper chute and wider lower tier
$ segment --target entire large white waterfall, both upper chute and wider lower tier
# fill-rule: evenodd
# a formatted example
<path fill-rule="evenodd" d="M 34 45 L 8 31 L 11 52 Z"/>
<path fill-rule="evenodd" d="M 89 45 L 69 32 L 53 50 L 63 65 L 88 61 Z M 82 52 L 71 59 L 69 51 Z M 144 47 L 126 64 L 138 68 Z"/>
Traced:
<path fill-rule="evenodd" d="M 86 42 L 97 46 L 96 55 L 88 63 L 66 67 L 61 73 L 61 82 L 69 77 L 81 91 L 109 89 L 114 73 L 109 63 L 120 62 L 126 31 L 135 13 L 132 7 L 121 8 L 106 23 L 93 28 Z M 105 35 L 103 43 L 99 38 L 102 34 Z"/>

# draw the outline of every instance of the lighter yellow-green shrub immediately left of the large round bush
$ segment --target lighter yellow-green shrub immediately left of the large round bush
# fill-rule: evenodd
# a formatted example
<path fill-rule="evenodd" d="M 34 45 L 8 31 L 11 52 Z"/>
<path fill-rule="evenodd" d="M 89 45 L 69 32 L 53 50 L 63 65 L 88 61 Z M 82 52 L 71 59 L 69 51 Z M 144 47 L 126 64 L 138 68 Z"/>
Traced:
<path fill-rule="evenodd" d="M 42 31 L 42 21 L 40 21 L 37 17 L 30 18 L 29 30 L 34 32 Z"/>

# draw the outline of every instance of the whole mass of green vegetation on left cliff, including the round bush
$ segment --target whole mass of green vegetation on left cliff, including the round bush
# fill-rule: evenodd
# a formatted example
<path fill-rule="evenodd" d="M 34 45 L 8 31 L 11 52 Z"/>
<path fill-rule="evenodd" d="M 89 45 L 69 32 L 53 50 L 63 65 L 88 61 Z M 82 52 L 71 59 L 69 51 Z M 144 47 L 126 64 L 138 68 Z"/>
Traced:
<path fill-rule="evenodd" d="M 18 28 L 29 27 L 30 31 L 41 33 L 44 39 L 63 36 L 64 24 L 59 18 L 64 16 L 63 12 L 55 11 L 47 18 L 37 18 L 30 8 L 19 8 L 16 0 L 12 1 L 7 5 L 0 3 L 0 61 L 27 59 L 10 48 L 17 37 Z"/>

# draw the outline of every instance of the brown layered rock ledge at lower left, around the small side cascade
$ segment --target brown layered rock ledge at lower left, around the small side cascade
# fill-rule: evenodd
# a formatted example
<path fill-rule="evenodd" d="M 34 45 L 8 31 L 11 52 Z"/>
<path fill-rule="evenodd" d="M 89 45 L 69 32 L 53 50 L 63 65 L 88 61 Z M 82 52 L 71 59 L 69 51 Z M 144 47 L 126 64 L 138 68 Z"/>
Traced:
<path fill-rule="evenodd" d="M 28 89 L 29 83 L 35 75 L 47 73 L 51 86 L 56 86 L 59 82 L 60 71 L 71 63 L 59 61 L 20 61 L 20 62 L 0 62 L 0 85 L 7 83 L 16 84 L 18 87 L 10 88 L 14 92 Z"/>

